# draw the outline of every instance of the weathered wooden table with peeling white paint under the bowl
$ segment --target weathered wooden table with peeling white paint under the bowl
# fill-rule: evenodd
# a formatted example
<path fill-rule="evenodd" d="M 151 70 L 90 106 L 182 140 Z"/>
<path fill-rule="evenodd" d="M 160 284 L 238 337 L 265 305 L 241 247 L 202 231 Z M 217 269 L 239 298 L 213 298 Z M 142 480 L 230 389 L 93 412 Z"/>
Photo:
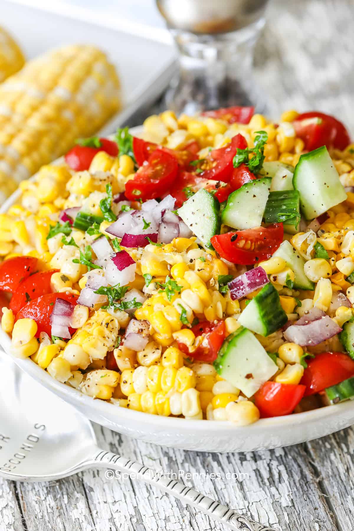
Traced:
<path fill-rule="evenodd" d="M 352 0 L 274 1 L 258 42 L 256 73 L 272 114 L 287 108 L 331 112 L 354 132 Z M 96 426 L 99 443 L 283 531 L 354 529 L 354 430 L 272 451 L 211 454 L 159 448 Z M 218 474 L 217 479 L 203 473 Z M 232 474 L 234 474 L 232 476 Z M 235 474 L 238 478 L 236 479 Z M 89 471 L 55 483 L 0 478 L 0 531 L 221 530 L 142 483 Z"/>

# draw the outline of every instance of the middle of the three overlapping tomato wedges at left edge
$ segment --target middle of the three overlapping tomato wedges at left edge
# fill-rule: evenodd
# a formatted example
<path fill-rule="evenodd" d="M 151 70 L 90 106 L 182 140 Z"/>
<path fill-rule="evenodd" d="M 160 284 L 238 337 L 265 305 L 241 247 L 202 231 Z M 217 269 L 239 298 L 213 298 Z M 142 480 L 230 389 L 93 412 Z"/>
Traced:
<path fill-rule="evenodd" d="M 47 293 L 51 293 L 50 278 L 56 271 L 57 269 L 40 271 L 39 273 L 34 273 L 34 275 L 22 280 L 19 287 L 13 293 L 10 301 L 10 308 L 13 313 L 18 313 L 22 306 L 27 302 L 32 301 L 37 297 L 41 297 L 42 295 L 47 295 Z"/>

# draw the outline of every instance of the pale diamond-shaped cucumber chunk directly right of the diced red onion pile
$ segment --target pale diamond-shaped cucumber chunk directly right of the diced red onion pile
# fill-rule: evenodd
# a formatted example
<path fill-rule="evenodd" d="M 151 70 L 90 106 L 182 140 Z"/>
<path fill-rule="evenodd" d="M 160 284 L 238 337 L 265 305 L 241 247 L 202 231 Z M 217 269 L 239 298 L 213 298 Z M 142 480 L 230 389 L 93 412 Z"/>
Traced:
<path fill-rule="evenodd" d="M 220 204 L 204 188 L 198 190 L 177 210 L 186 225 L 207 249 L 213 249 L 210 238 L 220 233 Z"/>

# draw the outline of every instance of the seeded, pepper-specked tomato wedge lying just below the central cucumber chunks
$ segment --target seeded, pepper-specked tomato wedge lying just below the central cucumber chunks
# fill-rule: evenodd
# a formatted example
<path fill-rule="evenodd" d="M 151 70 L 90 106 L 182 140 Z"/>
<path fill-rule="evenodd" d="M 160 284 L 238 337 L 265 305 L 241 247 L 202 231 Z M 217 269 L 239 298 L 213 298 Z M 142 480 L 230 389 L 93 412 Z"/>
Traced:
<path fill-rule="evenodd" d="M 273 223 L 268 227 L 218 234 L 210 241 L 221 258 L 235 264 L 251 265 L 269 259 L 283 241 L 283 234 L 283 224 Z"/>

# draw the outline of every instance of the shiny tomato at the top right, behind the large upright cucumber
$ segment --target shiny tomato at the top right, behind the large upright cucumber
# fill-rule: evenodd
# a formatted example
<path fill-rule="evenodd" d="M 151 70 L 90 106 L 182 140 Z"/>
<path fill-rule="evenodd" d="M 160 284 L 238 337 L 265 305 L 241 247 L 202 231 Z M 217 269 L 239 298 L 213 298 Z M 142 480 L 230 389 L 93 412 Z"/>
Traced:
<path fill-rule="evenodd" d="M 345 149 L 350 144 L 346 127 L 328 114 L 311 111 L 300 114 L 293 122 L 296 135 L 305 142 L 305 149 L 312 151 L 326 145 L 327 148 Z"/>

